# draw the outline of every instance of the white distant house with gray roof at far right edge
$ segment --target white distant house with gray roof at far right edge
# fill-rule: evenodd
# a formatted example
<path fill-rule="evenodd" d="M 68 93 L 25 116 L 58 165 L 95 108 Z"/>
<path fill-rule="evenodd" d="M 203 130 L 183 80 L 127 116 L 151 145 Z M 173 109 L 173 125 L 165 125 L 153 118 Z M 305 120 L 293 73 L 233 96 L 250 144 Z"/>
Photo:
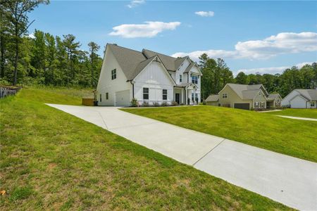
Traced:
<path fill-rule="evenodd" d="M 282 99 L 282 106 L 290 108 L 317 108 L 317 89 L 294 89 Z"/>

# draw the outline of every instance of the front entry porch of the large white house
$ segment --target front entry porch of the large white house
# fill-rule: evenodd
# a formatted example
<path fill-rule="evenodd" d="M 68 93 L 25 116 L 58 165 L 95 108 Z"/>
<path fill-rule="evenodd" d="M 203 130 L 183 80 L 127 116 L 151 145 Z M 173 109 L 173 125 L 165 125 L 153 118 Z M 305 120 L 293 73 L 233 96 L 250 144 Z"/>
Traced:
<path fill-rule="evenodd" d="M 178 105 L 197 105 L 200 93 L 195 84 L 180 84 L 174 87 L 174 101 Z"/>

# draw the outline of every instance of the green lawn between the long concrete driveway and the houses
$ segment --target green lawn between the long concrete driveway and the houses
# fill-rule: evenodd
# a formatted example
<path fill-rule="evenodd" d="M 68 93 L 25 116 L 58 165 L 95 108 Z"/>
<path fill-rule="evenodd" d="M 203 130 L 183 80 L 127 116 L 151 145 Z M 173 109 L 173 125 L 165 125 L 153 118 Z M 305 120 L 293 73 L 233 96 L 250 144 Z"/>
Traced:
<path fill-rule="evenodd" d="M 216 106 L 122 110 L 317 162 L 317 122 Z"/>

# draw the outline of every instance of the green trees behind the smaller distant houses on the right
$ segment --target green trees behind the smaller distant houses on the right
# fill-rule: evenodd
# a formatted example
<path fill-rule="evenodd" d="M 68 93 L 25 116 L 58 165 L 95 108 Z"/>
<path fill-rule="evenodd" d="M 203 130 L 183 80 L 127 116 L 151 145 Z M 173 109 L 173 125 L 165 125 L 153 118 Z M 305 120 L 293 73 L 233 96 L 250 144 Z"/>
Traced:
<path fill-rule="evenodd" d="M 317 63 L 304 65 L 302 68 L 287 68 L 282 74 L 245 74 L 239 72 L 233 77 L 232 71 L 221 58 L 209 58 L 206 53 L 199 57 L 201 77 L 201 98 L 206 99 L 210 94 L 218 94 L 227 83 L 263 84 L 269 93 L 279 93 L 282 97 L 293 89 L 317 88 Z"/>

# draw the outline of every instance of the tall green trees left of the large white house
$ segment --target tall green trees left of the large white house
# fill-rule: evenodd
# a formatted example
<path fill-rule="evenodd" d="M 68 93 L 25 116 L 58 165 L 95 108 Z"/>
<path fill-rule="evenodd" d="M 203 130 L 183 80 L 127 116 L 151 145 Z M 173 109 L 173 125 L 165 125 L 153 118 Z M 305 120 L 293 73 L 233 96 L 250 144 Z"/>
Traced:
<path fill-rule="evenodd" d="M 89 51 L 73 34 L 63 37 L 35 30 L 28 36 L 27 13 L 44 0 L 1 2 L 1 84 L 44 84 L 53 86 L 96 87 L 102 58 L 100 46 L 89 42 Z"/>

